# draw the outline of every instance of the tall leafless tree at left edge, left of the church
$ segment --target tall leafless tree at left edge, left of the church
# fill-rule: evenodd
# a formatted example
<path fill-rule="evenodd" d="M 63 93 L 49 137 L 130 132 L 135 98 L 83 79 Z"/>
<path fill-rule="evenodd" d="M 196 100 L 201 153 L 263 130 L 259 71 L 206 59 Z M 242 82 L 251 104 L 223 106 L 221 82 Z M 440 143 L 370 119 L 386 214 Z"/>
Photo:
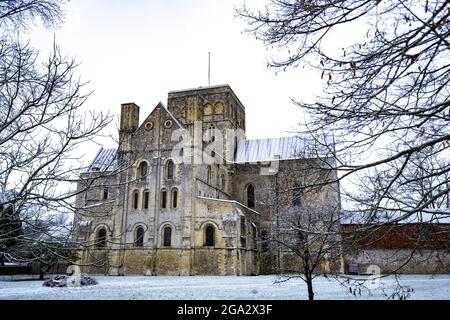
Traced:
<path fill-rule="evenodd" d="M 0 253 L 13 261 L 51 264 L 73 257 L 70 231 L 55 232 L 61 224 L 54 215 L 71 213 L 74 196 L 83 191 L 71 187 L 84 169 L 78 147 L 111 121 L 108 114 L 84 111 L 90 92 L 73 59 L 54 44 L 42 60 L 24 41 L 24 29 L 34 23 L 61 23 L 63 2 L 0 1 L 0 194 L 7 195 L 0 197 Z M 13 236 L 11 226 L 20 232 Z"/>

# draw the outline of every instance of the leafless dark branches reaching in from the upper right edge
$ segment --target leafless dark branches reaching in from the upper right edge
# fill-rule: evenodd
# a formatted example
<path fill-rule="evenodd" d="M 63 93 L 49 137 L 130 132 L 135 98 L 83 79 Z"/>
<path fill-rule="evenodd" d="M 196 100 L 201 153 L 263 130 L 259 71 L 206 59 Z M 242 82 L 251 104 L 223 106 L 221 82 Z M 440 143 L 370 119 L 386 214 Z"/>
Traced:
<path fill-rule="evenodd" d="M 450 170 L 448 1 L 269 0 L 237 14 L 278 49 L 269 67 L 309 66 L 323 79 L 316 103 L 295 103 L 307 111 L 306 131 L 334 135 L 338 179 L 371 184 L 370 201 L 349 193 L 358 209 L 395 211 L 401 220 L 442 202 Z M 408 175 L 429 153 L 439 160 L 433 173 Z M 429 185 L 430 177 L 440 182 Z M 426 189 L 408 201 L 397 192 L 418 184 Z"/>

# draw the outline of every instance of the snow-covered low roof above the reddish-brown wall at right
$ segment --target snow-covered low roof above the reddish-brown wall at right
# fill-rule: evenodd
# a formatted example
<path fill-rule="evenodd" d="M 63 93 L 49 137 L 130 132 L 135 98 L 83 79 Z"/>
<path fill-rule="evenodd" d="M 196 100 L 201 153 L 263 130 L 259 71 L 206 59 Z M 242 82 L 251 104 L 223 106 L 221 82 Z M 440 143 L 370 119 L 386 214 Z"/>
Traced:
<path fill-rule="evenodd" d="M 370 212 L 350 212 L 343 211 L 341 213 L 341 224 L 375 224 L 375 223 L 388 223 L 390 221 L 398 221 L 399 224 L 404 223 L 450 223 L 450 210 L 427 210 L 429 212 L 414 213 L 408 217 L 406 213 L 399 212 L 380 212 L 373 214 Z"/>

